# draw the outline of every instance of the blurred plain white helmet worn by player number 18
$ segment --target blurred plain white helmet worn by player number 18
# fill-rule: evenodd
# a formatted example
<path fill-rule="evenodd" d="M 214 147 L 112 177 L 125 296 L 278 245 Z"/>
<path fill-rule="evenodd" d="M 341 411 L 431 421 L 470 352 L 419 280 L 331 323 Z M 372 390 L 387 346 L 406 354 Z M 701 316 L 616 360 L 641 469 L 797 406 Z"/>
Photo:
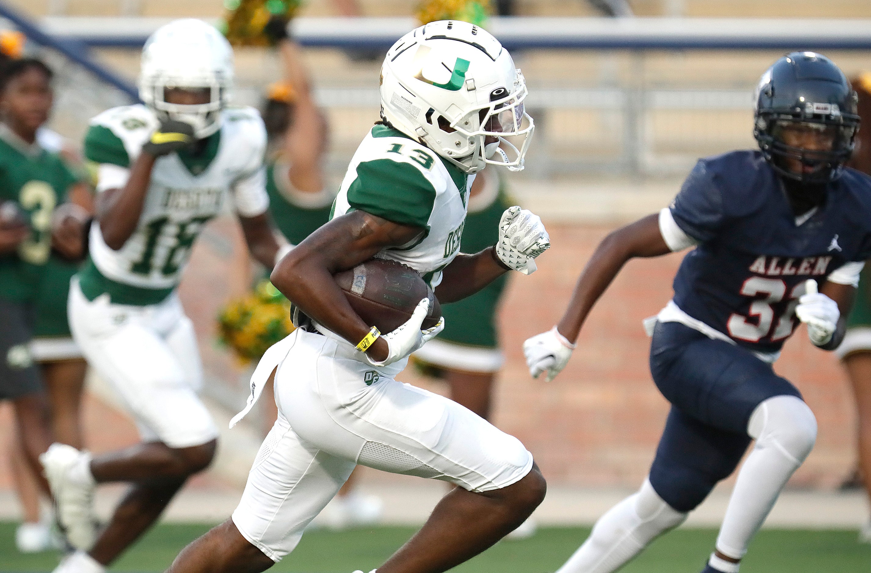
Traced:
<path fill-rule="evenodd" d="M 170 104 L 168 88 L 207 88 L 207 104 Z M 220 111 L 233 88 L 233 49 L 213 26 L 184 18 L 161 26 L 145 42 L 139 73 L 139 98 L 159 118 L 172 118 L 193 126 L 194 137 L 218 131 Z"/>

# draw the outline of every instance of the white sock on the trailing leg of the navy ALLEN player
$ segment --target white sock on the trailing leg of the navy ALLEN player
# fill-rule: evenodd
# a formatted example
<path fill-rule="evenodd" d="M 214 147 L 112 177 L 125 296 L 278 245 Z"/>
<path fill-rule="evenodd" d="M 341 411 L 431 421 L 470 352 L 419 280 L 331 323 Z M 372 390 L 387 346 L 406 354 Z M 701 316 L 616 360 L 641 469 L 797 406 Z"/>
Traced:
<path fill-rule="evenodd" d="M 630 495 L 604 516 L 592 533 L 557 573 L 611 573 L 648 543 L 678 527 L 687 514 L 672 509 L 645 480 L 638 493 Z"/>

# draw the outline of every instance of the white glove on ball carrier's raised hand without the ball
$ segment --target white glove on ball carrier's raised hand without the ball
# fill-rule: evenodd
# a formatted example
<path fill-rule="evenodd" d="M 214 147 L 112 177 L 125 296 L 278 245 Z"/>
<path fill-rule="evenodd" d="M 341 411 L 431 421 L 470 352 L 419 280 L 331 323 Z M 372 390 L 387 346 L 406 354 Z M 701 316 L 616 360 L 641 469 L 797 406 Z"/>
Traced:
<path fill-rule="evenodd" d="M 549 248 L 550 236 L 538 215 L 518 206 L 502 213 L 496 256 L 505 266 L 523 274 L 535 273 L 535 258 Z"/>

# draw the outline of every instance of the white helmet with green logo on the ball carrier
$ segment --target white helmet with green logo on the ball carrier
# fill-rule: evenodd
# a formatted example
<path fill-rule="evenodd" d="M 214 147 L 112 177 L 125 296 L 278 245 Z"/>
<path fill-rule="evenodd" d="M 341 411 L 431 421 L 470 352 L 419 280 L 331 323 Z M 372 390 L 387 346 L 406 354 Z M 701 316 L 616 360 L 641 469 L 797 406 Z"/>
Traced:
<path fill-rule="evenodd" d="M 535 125 L 526 83 L 490 32 L 458 20 L 424 24 L 381 66 L 381 117 L 463 172 L 523 169 Z M 496 138 L 485 145 L 485 138 Z"/>

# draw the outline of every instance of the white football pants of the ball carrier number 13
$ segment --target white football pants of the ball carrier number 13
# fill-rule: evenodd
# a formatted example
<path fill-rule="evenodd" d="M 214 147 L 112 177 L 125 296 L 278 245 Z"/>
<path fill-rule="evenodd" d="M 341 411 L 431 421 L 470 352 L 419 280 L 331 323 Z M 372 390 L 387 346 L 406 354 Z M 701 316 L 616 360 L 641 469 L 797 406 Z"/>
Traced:
<path fill-rule="evenodd" d="M 373 367 L 347 341 L 297 329 L 275 374 L 279 418 L 253 464 L 233 522 L 279 561 L 355 464 L 501 489 L 532 468 L 517 438 L 438 394 L 395 381 L 407 361 Z M 270 368 L 271 369 L 271 368 Z"/>

